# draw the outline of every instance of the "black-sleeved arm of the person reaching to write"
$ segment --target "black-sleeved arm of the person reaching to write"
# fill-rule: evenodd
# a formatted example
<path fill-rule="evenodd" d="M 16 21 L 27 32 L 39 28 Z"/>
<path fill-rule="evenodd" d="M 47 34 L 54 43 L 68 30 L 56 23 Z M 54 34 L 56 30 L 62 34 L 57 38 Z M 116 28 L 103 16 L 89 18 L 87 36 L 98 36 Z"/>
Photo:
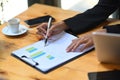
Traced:
<path fill-rule="evenodd" d="M 78 34 L 95 28 L 104 22 L 119 6 L 119 0 L 99 0 L 92 9 L 64 20 L 65 24 Z"/>

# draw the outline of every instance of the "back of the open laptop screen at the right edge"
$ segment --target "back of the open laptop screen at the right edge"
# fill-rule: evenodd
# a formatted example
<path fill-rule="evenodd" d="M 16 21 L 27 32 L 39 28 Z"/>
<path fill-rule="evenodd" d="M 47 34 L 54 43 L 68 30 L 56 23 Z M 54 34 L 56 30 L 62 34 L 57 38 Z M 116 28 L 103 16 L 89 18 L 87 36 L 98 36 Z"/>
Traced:
<path fill-rule="evenodd" d="M 120 34 L 93 32 L 93 41 L 100 62 L 120 64 Z"/>

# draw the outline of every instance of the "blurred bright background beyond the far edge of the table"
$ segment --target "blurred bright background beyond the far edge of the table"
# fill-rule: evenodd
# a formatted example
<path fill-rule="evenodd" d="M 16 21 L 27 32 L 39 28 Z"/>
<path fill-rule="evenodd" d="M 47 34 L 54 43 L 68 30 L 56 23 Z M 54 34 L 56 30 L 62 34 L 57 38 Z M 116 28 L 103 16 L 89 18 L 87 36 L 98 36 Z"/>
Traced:
<path fill-rule="evenodd" d="M 7 3 L 4 3 L 3 5 L 3 12 L 0 11 L 0 18 L 2 17 L 7 21 L 22 13 L 35 3 L 56 6 L 66 10 L 84 12 L 96 5 L 98 0 L 8 0 Z M 118 12 L 119 11 L 112 14 L 111 17 L 118 18 L 119 16 L 116 15 Z"/>

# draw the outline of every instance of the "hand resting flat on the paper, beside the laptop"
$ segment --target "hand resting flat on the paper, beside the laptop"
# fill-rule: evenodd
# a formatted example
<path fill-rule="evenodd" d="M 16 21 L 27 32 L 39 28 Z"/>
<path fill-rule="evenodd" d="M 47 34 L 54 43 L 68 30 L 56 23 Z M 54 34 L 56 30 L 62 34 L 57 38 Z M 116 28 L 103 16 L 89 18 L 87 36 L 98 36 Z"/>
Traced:
<path fill-rule="evenodd" d="M 88 34 L 88 35 L 72 40 L 72 43 L 68 46 L 66 51 L 74 52 L 81 44 L 84 44 L 84 45 L 80 48 L 79 50 L 80 52 L 92 46 L 93 45 L 92 34 Z"/>

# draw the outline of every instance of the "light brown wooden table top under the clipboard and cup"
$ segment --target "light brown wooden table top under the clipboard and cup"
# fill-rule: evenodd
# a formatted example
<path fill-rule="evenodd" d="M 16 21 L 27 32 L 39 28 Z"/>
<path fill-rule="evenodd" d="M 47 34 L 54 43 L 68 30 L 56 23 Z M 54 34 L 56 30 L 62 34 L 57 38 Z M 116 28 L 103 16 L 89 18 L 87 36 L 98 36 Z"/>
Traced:
<path fill-rule="evenodd" d="M 35 4 L 17 17 L 21 19 L 21 24 L 26 25 L 24 20 L 37 16 L 50 14 L 57 21 L 60 21 L 77 13 Z M 120 69 L 119 65 L 100 64 L 95 51 L 91 51 L 47 74 L 43 74 L 10 55 L 13 50 L 38 41 L 36 28 L 32 28 L 21 36 L 8 37 L 1 32 L 5 25 L 0 26 L 0 80 L 2 80 L 1 78 L 3 80 L 88 80 L 88 72 Z"/>

